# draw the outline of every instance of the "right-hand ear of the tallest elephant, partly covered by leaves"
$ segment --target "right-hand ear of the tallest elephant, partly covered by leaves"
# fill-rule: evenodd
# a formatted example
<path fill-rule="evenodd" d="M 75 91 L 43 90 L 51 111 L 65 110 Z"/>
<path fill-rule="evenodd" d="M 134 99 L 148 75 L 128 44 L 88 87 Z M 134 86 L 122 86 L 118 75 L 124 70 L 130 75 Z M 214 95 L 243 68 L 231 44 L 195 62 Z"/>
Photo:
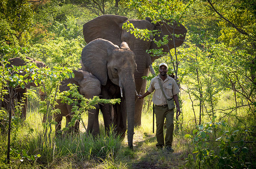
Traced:
<path fill-rule="evenodd" d="M 151 22 L 150 18 L 148 18 L 148 17 L 146 18 L 146 20 Z M 169 49 L 174 48 L 173 36 L 172 36 L 173 29 L 174 29 L 174 33 L 176 35 L 179 35 L 179 37 L 175 37 L 176 47 L 179 47 L 184 42 L 186 32 L 187 32 L 186 28 L 183 25 L 181 25 L 180 23 L 178 24 L 176 21 L 173 21 L 172 23 L 169 23 L 169 24 L 168 24 L 168 22 L 170 22 L 170 21 L 156 23 L 155 30 L 159 30 L 160 36 L 155 35 L 154 38 L 158 41 L 158 40 L 162 39 L 164 35 L 169 35 L 168 37 L 171 38 L 172 40 L 169 40 L 168 46 L 164 45 L 164 46 L 158 47 L 155 43 L 152 43 L 150 46 L 150 49 L 163 48 L 164 52 L 169 52 Z M 169 49 L 168 49 L 168 47 L 169 47 Z"/>

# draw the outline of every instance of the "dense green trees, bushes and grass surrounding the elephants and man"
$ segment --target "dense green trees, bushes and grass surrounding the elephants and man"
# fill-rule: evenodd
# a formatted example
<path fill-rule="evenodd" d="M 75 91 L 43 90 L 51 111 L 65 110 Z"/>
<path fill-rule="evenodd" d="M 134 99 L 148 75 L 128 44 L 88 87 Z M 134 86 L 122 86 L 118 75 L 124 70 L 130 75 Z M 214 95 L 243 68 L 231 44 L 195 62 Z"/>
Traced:
<path fill-rule="evenodd" d="M 48 66 L 37 69 L 27 65 L 14 70 L 29 69 L 35 83 L 43 82 L 40 88 L 50 98 L 40 101 L 38 88 L 28 90 L 26 120 L 20 119 L 19 106 L 12 114 L 10 150 L 9 114 L 0 110 L 0 168 L 255 168 L 254 0 L 0 0 L 0 7 L 0 104 L 8 92 L 6 87 L 27 83 L 23 77 L 11 75 L 5 66 L 13 57 L 28 56 Z M 133 151 L 127 148 L 126 139 L 122 141 L 113 133 L 106 136 L 103 126 L 97 138 L 81 129 L 80 134 L 60 139 L 55 138 L 51 121 L 42 125 L 42 114 L 51 112 L 56 103 L 59 82 L 80 66 L 86 45 L 83 24 L 102 14 L 138 19 L 150 16 L 156 22 L 173 19 L 187 28 L 182 46 L 161 53 L 165 56 L 153 64 L 157 72 L 159 63 L 166 62 L 168 73 L 179 77 L 182 88 L 182 114 L 175 121 L 173 154 L 156 151 L 152 95 L 144 99 Z M 147 40 L 152 32 L 133 33 Z M 75 111 L 82 113 L 86 126 L 87 113 Z M 100 123 L 103 125 L 102 117 Z"/>

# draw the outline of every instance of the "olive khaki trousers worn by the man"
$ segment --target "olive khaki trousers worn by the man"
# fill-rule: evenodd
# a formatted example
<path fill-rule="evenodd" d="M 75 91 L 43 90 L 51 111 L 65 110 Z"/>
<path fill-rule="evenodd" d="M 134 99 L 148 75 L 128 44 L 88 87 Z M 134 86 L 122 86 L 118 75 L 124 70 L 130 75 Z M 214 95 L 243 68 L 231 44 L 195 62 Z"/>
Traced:
<path fill-rule="evenodd" d="M 156 114 L 156 147 L 162 148 L 172 147 L 173 140 L 173 116 L 174 110 L 169 110 L 168 106 L 158 106 L 155 105 L 155 114 Z M 165 144 L 164 144 L 164 118 L 166 119 L 166 134 L 165 134 Z"/>

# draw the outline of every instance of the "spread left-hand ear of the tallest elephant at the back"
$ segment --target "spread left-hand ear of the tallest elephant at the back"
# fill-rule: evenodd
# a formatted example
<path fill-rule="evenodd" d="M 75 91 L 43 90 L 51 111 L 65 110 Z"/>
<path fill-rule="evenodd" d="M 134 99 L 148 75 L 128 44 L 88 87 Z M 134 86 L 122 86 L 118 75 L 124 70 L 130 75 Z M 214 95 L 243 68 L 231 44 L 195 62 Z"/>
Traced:
<path fill-rule="evenodd" d="M 122 23 L 127 21 L 127 17 L 118 15 L 102 15 L 83 26 L 85 42 L 89 43 L 97 38 L 106 39 L 119 45 L 122 34 Z"/>

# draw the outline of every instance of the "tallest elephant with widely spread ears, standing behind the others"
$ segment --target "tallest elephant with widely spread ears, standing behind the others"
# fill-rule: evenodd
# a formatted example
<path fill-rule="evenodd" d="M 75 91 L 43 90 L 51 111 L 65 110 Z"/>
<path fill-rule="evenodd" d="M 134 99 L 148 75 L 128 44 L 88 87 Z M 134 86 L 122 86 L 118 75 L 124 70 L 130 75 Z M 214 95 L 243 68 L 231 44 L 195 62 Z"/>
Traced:
<path fill-rule="evenodd" d="M 180 34 L 179 38 L 175 37 L 173 40 L 169 40 L 168 45 L 157 47 L 155 43 L 150 41 L 144 41 L 136 39 L 133 34 L 122 29 L 123 23 L 129 21 L 133 23 L 134 27 L 138 29 L 159 30 L 160 36 L 156 35 L 154 38 L 159 40 L 163 35 L 169 35 L 169 38 L 173 39 L 172 34 Z M 157 58 L 160 56 L 150 57 L 146 52 L 148 49 L 163 48 L 164 52 L 169 52 L 174 47 L 179 47 L 185 39 L 186 28 L 180 23 L 175 21 L 173 24 L 151 23 L 150 18 L 146 20 L 128 20 L 127 17 L 117 15 L 102 15 L 99 16 L 83 26 L 84 40 L 89 43 L 94 39 L 102 38 L 109 40 L 110 42 L 119 45 L 121 42 L 126 42 L 131 51 L 135 54 L 135 62 L 137 64 L 137 72 L 134 73 L 136 91 L 139 94 L 143 94 L 146 89 L 146 79 L 142 79 L 143 76 L 148 75 L 148 68 Z M 153 37 L 152 37 L 153 38 Z M 135 104 L 135 126 L 141 124 L 141 111 L 143 106 L 143 99 L 137 99 Z"/>

